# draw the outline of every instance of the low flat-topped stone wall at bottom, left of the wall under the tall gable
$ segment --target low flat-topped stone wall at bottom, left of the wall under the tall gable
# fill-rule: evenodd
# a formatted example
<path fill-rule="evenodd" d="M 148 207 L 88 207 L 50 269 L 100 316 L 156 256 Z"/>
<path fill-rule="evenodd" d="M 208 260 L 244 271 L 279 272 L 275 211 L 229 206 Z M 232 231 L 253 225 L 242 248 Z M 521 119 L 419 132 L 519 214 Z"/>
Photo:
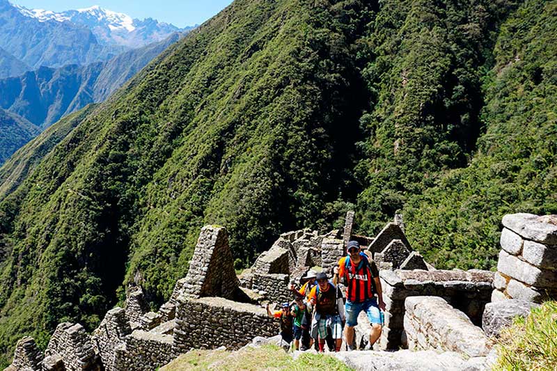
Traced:
<path fill-rule="evenodd" d="M 116 347 L 114 371 L 152 371 L 175 358 L 173 336 L 136 330 Z"/>

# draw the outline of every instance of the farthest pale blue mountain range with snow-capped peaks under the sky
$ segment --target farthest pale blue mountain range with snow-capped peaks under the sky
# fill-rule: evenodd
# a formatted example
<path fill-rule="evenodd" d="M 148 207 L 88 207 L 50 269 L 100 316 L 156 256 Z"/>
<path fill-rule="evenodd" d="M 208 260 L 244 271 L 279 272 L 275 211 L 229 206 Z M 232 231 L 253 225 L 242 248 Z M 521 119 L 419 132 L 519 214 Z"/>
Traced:
<path fill-rule="evenodd" d="M 88 65 L 189 31 L 93 6 L 55 13 L 0 0 L 0 78 L 40 67 Z"/>

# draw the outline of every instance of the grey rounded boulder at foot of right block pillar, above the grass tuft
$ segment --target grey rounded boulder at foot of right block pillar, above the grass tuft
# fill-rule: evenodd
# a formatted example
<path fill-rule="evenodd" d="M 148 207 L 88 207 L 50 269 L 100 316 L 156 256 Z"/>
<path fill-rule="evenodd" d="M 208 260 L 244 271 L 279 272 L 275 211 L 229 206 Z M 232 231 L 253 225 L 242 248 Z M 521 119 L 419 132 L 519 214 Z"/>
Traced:
<path fill-rule="evenodd" d="M 508 299 L 497 303 L 487 303 L 482 318 L 482 328 L 487 336 L 499 336 L 505 326 L 512 324 L 517 316 L 526 317 L 539 304 L 524 300 Z"/>

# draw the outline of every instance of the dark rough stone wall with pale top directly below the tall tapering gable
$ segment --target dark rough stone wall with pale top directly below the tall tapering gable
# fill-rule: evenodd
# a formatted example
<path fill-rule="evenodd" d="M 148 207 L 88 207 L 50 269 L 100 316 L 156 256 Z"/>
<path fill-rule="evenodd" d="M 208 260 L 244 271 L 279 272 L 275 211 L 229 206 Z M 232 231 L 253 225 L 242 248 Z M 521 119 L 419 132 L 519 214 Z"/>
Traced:
<path fill-rule="evenodd" d="M 179 301 L 174 329 L 176 354 L 191 348 L 240 349 L 256 336 L 275 336 L 279 330 L 278 321 L 267 317 L 260 306 L 217 297 L 180 297 Z"/>

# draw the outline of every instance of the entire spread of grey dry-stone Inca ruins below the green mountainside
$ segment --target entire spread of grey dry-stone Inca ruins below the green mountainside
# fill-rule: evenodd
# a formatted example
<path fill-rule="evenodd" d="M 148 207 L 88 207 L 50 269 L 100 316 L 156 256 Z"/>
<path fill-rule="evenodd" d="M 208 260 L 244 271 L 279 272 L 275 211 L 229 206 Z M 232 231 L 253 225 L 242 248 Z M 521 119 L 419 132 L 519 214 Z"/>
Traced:
<path fill-rule="evenodd" d="M 496 274 L 434 269 L 412 250 L 402 218 L 388 223 L 375 238 L 354 235 L 353 223 L 354 214 L 349 213 L 344 230 L 283 233 L 240 277 L 234 271 L 226 229 L 205 226 L 187 276 L 176 282 L 158 312 L 150 311 L 141 287 L 130 287 L 125 308 L 109 310 L 92 336 L 80 324 L 60 324 L 45 354 L 32 338 L 23 338 L 7 370 L 156 370 L 192 348 L 238 349 L 253 338 L 270 338 L 279 325 L 267 317 L 265 303 L 292 299 L 289 283 L 301 283 L 311 267 L 331 271 L 350 239 L 368 247 L 383 268 L 379 277 L 386 312 L 376 349 L 425 349 L 419 354 L 434 350 L 443 352 L 434 357 L 439 364 L 482 369 L 489 338 L 498 336 L 515 315 L 528 315 L 536 306 L 532 301 L 555 297 L 556 216 L 505 216 Z M 364 347 L 369 331 L 361 315 L 356 344 Z M 366 354 L 352 352 L 350 360 L 370 368 L 414 362 L 408 350 L 376 352 L 378 358 Z M 358 357 L 361 362 L 356 362 Z"/>

